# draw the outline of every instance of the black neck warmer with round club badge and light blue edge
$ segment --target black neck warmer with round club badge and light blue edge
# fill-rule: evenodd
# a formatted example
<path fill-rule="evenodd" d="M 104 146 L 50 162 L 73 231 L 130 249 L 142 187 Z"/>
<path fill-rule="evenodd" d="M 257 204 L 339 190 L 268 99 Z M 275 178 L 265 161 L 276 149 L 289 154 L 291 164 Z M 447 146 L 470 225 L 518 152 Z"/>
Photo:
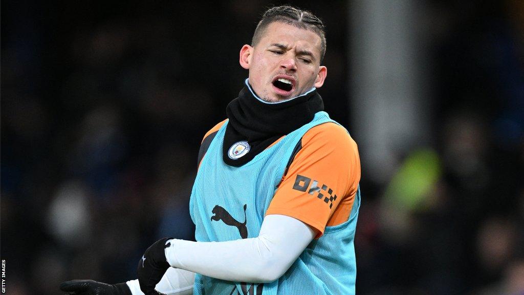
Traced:
<path fill-rule="evenodd" d="M 226 108 L 229 122 L 224 136 L 224 162 L 235 167 L 246 164 L 283 135 L 311 122 L 315 113 L 323 109 L 324 103 L 316 90 L 289 101 L 264 103 L 244 87 Z M 249 151 L 231 159 L 229 150 L 241 141 L 249 144 Z"/>

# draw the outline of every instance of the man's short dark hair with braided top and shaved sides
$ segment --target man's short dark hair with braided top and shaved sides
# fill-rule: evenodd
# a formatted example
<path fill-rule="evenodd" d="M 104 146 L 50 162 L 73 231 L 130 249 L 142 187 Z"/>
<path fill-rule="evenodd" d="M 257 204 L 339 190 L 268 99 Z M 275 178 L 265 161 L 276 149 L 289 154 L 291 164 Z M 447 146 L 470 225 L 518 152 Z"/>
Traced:
<path fill-rule="evenodd" d="M 320 18 L 307 10 L 302 10 L 293 6 L 277 6 L 266 10 L 260 22 L 258 22 L 251 46 L 255 47 L 262 36 L 266 33 L 266 29 L 271 23 L 285 23 L 297 28 L 312 30 L 320 37 L 320 61 L 324 59 L 326 52 L 326 37 L 325 27 Z"/>

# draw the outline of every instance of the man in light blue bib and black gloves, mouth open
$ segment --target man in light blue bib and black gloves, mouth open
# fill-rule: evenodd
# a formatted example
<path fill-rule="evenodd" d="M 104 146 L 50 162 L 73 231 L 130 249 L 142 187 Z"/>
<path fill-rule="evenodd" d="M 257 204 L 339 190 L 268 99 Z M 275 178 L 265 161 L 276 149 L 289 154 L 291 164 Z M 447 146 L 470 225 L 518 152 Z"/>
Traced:
<path fill-rule="evenodd" d="M 354 294 L 360 162 L 350 135 L 322 111 L 324 52 L 317 17 L 268 9 L 240 51 L 244 89 L 202 141 L 190 199 L 196 242 L 157 241 L 138 280 L 75 280 L 62 290 Z"/>

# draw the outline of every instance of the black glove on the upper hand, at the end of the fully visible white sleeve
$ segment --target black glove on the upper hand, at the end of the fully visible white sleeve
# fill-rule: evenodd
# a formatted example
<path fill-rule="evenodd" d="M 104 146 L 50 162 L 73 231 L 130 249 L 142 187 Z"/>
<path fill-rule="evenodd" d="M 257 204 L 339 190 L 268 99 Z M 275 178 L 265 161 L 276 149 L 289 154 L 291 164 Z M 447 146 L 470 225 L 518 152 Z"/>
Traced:
<path fill-rule="evenodd" d="M 172 238 L 163 238 L 156 241 L 155 244 L 147 248 L 142 259 L 138 261 L 138 282 L 140 283 L 140 290 L 146 295 L 161 294 L 155 290 L 155 286 L 170 267 L 164 250 L 171 246 L 171 243 L 166 245 L 166 241 L 170 239 Z"/>

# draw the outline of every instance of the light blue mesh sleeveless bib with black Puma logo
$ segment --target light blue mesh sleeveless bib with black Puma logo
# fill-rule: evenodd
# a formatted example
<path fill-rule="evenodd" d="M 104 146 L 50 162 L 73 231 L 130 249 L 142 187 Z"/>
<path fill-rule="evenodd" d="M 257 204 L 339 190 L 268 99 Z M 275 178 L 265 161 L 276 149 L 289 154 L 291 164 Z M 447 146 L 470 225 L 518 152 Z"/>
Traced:
<path fill-rule="evenodd" d="M 293 149 L 316 125 L 333 122 L 323 111 L 240 167 L 224 163 L 223 124 L 200 164 L 190 199 L 197 241 L 229 241 L 258 236 L 265 212 L 282 180 Z M 337 123 L 338 124 L 338 123 Z M 233 149 L 234 150 L 234 149 Z M 243 148 L 238 149 L 243 152 Z M 194 295 L 354 294 L 356 262 L 353 240 L 360 206 L 360 188 L 348 220 L 326 227 L 278 280 L 242 283 L 197 274 Z"/>

